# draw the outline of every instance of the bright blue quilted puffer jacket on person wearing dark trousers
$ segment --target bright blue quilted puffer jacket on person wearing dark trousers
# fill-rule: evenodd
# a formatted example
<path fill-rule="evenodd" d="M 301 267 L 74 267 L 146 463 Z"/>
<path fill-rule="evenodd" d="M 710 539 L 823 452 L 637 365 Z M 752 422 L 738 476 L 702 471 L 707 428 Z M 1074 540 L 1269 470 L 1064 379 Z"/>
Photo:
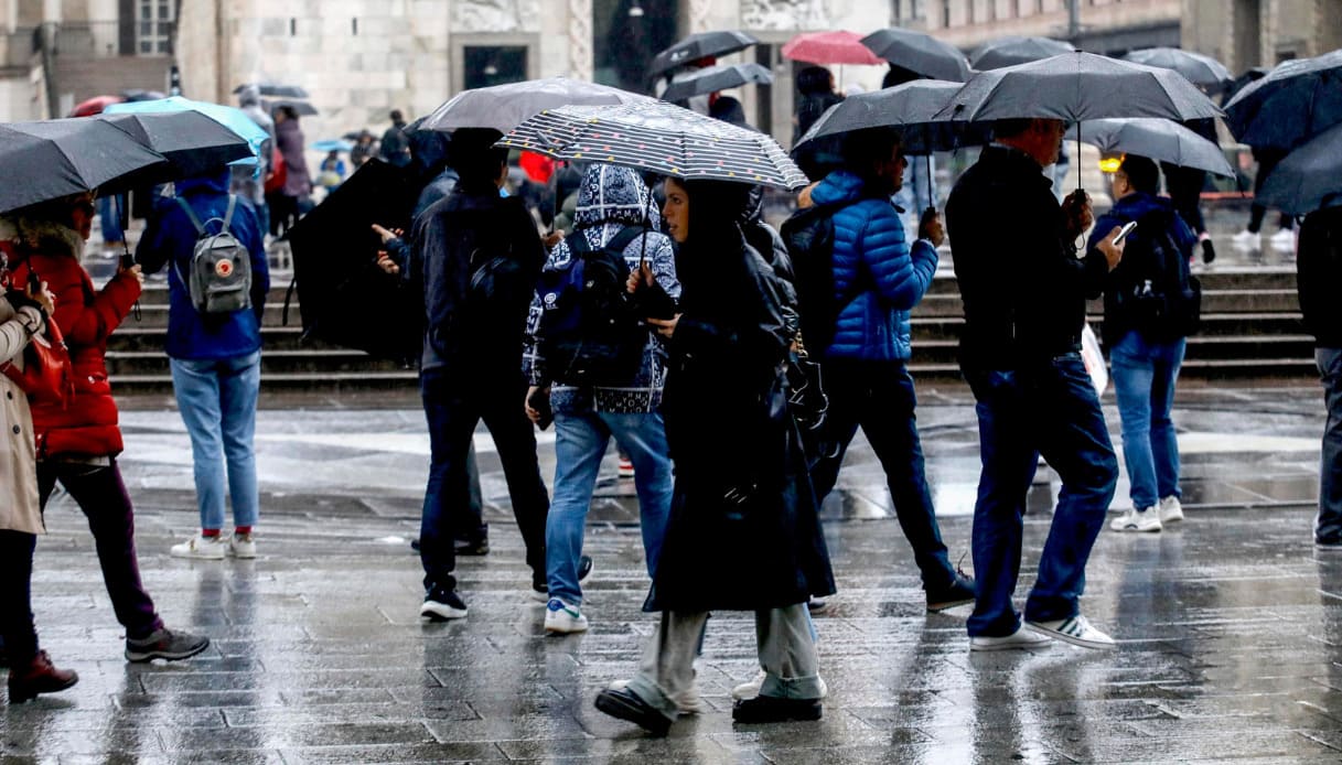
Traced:
<path fill-rule="evenodd" d="M 909 310 L 918 305 L 937 272 L 937 250 L 914 242 L 913 252 L 895 207 L 863 195 L 863 181 L 835 170 L 812 189 L 815 204 L 851 201 L 833 216 L 835 293 L 852 285 L 863 291 L 839 311 L 825 358 L 907 361 L 911 353 Z"/>

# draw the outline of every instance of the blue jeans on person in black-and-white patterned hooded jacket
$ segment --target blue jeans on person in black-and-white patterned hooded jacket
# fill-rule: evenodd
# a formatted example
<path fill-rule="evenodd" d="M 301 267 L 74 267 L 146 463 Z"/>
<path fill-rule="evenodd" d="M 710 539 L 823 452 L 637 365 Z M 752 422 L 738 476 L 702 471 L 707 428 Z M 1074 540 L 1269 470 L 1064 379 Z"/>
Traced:
<path fill-rule="evenodd" d="M 578 586 L 578 557 L 582 529 L 592 490 L 605 447 L 615 442 L 633 462 L 633 486 L 639 493 L 639 519 L 643 527 L 643 554 L 648 576 L 656 570 L 662 537 L 671 514 L 671 458 L 662 415 L 616 415 L 596 412 L 590 405 L 554 412 L 554 499 L 545 522 L 545 573 L 550 597 L 569 604 L 582 603 Z"/>

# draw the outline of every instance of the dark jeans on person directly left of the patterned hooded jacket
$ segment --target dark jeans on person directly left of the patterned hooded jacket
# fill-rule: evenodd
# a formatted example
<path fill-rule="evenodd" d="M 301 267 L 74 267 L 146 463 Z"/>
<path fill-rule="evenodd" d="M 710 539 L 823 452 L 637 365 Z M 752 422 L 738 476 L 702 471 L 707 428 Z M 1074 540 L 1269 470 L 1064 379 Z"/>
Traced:
<path fill-rule="evenodd" d="M 545 517 L 550 498 L 535 459 L 535 429 L 522 408 L 526 380 L 521 373 L 501 382 L 498 376 L 482 374 L 478 369 L 455 374 L 427 369 L 420 373 L 420 396 L 429 436 L 428 486 L 420 519 L 424 589 L 429 593 L 456 589 L 452 545 L 459 519 L 470 503 L 466 462 L 480 420 L 494 436 L 503 463 L 513 515 L 526 544 L 526 564 L 531 566 L 533 580 L 544 584 Z"/>

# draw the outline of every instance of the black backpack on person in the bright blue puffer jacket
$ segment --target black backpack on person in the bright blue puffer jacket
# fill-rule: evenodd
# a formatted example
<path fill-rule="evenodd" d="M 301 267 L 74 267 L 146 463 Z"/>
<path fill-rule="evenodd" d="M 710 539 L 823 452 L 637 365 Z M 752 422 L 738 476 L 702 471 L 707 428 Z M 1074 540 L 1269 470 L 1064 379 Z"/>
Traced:
<path fill-rule="evenodd" d="M 864 290 L 863 279 L 859 278 L 845 294 L 835 295 L 833 216 L 849 204 L 856 203 L 843 201 L 798 209 L 782 221 L 780 231 L 796 275 L 801 337 L 816 358 L 821 357 L 833 341 L 839 313 Z"/>

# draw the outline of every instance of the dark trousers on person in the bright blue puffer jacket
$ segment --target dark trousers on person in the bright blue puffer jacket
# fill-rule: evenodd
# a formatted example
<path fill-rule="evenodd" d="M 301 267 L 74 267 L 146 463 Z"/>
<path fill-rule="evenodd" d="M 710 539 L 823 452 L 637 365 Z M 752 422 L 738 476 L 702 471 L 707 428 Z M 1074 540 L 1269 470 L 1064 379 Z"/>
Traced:
<path fill-rule="evenodd" d="M 816 497 L 824 502 L 833 490 L 843 455 L 860 427 L 886 471 L 890 499 L 895 503 L 899 527 L 914 548 L 923 588 L 935 591 L 949 585 L 956 570 L 941 541 L 927 490 L 914 413 L 918 399 L 909 370 L 898 361 L 835 358 L 824 362 L 824 382 L 829 396 L 825 429 L 839 444 L 839 454 L 821 458 L 812 468 Z"/>

